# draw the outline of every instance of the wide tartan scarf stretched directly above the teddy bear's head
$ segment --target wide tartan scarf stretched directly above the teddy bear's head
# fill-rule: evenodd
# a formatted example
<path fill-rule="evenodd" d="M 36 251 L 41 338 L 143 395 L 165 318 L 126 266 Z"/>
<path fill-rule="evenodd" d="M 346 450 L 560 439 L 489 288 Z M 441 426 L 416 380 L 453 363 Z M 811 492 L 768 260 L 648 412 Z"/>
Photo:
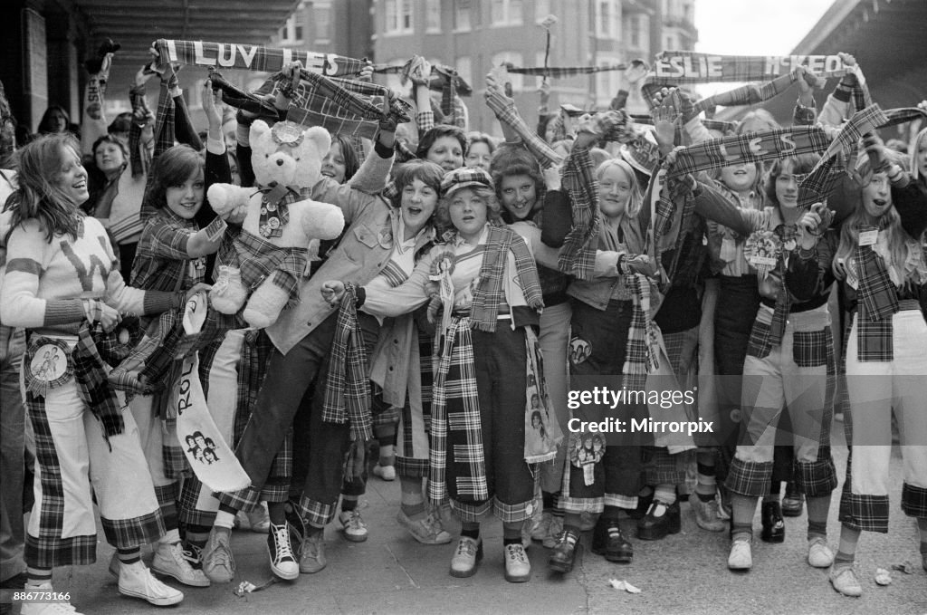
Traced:
<path fill-rule="evenodd" d="M 254 93 L 276 95 L 289 85 L 283 73 L 273 74 Z M 302 70 L 290 98 L 286 119 L 304 126 L 323 126 L 333 135 L 359 135 L 373 139 L 379 122 L 387 118 L 397 123 L 412 119 L 412 106 L 389 89 L 375 83 L 363 83 L 324 77 Z"/>

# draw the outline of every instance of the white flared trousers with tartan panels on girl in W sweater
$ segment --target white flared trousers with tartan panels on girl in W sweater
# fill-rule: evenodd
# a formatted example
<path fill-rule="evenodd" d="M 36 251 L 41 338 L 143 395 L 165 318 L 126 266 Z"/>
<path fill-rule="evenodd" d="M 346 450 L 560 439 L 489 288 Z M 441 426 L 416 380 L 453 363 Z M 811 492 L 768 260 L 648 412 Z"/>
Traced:
<path fill-rule="evenodd" d="M 94 494 L 110 545 L 129 549 L 164 535 L 138 428 L 128 408 L 121 413 L 122 433 L 108 441 L 73 378 L 49 389 L 44 398 L 27 391 L 26 410 L 36 456 L 35 505 L 26 530 L 28 566 L 48 569 L 95 562 Z"/>

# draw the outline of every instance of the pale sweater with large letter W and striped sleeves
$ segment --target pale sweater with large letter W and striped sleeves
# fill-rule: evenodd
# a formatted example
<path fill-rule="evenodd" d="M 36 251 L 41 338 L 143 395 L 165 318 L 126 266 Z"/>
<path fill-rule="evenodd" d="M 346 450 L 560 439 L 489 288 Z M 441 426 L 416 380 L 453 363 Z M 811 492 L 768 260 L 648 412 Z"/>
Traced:
<path fill-rule="evenodd" d="M 4 229 L 6 232 L 6 229 Z M 85 217 L 78 237 L 46 240 L 36 220 L 20 224 L 6 245 L 0 322 L 10 327 L 53 327 L 81 322 L 83 299 L 98 299 L 121 312 L 157 314 L 171 293 L 127 287 L 103 225 Z"/>

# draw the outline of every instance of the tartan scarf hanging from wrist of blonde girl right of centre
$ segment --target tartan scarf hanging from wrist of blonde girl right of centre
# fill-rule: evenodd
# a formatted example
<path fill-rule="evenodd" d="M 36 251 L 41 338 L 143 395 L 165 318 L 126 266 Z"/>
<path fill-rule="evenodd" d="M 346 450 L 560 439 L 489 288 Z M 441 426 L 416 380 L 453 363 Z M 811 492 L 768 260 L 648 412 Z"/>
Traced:
<path fill-rule="evenodd" d="M 625 363 L 621 368 L 621 373 L 626 377 L 622 384 L 635 391 L 644 391 L 647 374 L 660 366 L 660 342 L 657 326 L 650 314 L 650 280 L 645 275 L 634 274 L 631 276 L 631 287 L 634 290 L 634 303 Z"/>

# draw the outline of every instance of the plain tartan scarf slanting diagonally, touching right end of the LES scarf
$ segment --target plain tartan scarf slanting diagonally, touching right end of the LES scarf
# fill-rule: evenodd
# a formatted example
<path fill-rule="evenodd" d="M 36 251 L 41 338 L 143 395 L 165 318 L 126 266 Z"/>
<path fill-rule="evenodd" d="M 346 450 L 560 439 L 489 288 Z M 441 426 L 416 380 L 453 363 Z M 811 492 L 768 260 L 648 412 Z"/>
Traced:
<path fill-rule="evenodd" d="M 845 160 L 856 152 L 862 135 L 874 132 L 888 117 L 878 105 L 871 105 L 853 114 L 834 137 L 814 169 L 798 184 L 798 207 L 810 207 L 827 199 L 846 171 Z"/>

